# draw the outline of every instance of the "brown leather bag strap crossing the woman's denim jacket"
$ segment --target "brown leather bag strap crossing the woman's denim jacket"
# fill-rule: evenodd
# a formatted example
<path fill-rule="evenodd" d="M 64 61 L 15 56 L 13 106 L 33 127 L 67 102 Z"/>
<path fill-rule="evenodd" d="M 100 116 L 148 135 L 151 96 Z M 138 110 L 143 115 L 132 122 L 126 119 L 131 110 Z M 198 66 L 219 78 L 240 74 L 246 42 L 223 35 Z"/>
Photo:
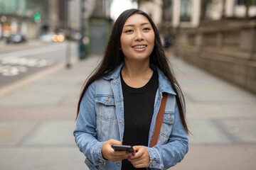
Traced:
<path fill-rule="evenodd" d="M 154 147 L 154 145 L 157 144 L 157 140 L 159 138 L 159 133 L 161 130 L 161 124 L 163 122 L 164 119 L 164 111 L 165 111 L 165 107 L 166 107 L 166 101 L 167 101 L 167 95 L 166 93 L 163 93 L 163 98 L 161 99 L 161 105 L 159 108 L 159 112 L 156 115 L 156 126 L 154 129 L 154 134 L 151 140 L 151 144 L 150 147 Z"/>

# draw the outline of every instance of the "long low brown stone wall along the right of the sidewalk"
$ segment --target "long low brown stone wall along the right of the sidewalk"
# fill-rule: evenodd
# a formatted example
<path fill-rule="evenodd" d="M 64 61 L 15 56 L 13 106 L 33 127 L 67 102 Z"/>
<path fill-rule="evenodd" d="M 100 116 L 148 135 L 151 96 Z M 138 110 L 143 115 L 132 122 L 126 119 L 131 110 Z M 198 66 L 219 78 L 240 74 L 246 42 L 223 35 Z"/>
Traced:
<path fill-rule="evenodd" d="M 177 56 L 256 93 L 256 21 L 215 21 L 177 37 Z"/>

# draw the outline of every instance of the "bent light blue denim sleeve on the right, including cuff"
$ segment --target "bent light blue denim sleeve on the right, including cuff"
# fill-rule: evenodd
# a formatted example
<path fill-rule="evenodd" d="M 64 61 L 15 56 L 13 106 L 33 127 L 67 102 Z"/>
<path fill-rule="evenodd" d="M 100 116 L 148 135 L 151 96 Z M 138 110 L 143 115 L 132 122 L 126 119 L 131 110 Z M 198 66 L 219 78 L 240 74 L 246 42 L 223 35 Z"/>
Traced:
<path fill-rule="evenodd" d="M 168 169 L 181 162 L 188 152 L 188 132 L 183 128 L 178 106 L 175 106 L 174 125 L 169 140 L 165 145 L 147 147 L 149 151 L 149 168 Z"/>

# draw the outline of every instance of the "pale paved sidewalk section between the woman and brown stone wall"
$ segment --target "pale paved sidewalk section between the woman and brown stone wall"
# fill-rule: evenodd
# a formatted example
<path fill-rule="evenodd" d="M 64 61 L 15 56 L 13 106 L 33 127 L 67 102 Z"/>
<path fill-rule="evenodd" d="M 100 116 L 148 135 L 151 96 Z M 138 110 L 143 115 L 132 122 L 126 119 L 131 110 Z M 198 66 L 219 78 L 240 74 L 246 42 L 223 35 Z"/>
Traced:
<path fill-rule="evenodd" d="M 186 95 L 190 148 L 172 169 L 255 169 L 256 96 L 171 57 Z"/>

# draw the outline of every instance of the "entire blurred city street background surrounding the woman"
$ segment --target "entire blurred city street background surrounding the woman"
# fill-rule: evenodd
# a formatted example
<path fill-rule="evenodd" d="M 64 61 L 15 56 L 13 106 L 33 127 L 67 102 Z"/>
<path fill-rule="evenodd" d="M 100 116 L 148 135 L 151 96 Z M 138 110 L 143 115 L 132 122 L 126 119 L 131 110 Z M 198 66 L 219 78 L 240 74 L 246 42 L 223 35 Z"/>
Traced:
<path fill-rule="evenodd" d="M 76 104 L 128 8 L 156 23 L 186 97 L 171 169 L 255 169 L 256 0 L 0 0 L 0 169 L 87 169 Z"/>

